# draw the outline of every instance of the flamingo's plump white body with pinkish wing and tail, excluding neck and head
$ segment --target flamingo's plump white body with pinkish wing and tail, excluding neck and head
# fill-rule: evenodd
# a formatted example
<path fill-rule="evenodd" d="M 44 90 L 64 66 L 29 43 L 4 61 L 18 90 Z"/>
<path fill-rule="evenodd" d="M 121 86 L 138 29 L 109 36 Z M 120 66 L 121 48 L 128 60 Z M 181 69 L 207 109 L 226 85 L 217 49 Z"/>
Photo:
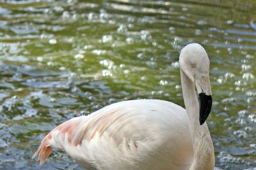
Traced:
<path fill-rule="evenodd" d="M 194 159 L 186 110 L 162 100 L 123 101 L 64 122 L 34 157 L 40 151 L 43 164 L 52 148 L 96 170 L 188 170 Z"/>

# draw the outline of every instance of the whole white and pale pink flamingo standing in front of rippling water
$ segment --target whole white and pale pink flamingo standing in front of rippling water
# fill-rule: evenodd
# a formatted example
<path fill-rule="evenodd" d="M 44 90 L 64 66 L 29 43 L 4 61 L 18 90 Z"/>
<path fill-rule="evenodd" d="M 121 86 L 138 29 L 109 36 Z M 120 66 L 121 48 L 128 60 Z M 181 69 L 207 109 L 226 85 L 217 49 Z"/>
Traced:
<path fill-rule="evenodd" d="M 210 61 L 205 49 L 192 43 L 181 50 L 179 63 L 186 110 L 163 100 L 111 104 L 54 128 L 33 158 L 39 154 L 42 165 L 58 148 L 88 170 L 213 170 L 205 123 L 212 107 Z"/>

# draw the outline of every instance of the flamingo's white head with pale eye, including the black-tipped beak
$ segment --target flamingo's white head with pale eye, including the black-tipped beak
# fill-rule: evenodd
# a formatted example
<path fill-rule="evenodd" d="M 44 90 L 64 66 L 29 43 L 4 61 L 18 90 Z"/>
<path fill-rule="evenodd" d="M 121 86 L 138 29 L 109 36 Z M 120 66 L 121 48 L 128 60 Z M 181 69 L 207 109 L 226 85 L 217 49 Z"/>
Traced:
<path fill-rule="evenodd" d="M 180 68 L 196 85 L 199 98 L 199 122 L 203 125 L 212 108 L 208 55 L 200 44 L 192 43 L 181 50 L 179 62 Z"/>

